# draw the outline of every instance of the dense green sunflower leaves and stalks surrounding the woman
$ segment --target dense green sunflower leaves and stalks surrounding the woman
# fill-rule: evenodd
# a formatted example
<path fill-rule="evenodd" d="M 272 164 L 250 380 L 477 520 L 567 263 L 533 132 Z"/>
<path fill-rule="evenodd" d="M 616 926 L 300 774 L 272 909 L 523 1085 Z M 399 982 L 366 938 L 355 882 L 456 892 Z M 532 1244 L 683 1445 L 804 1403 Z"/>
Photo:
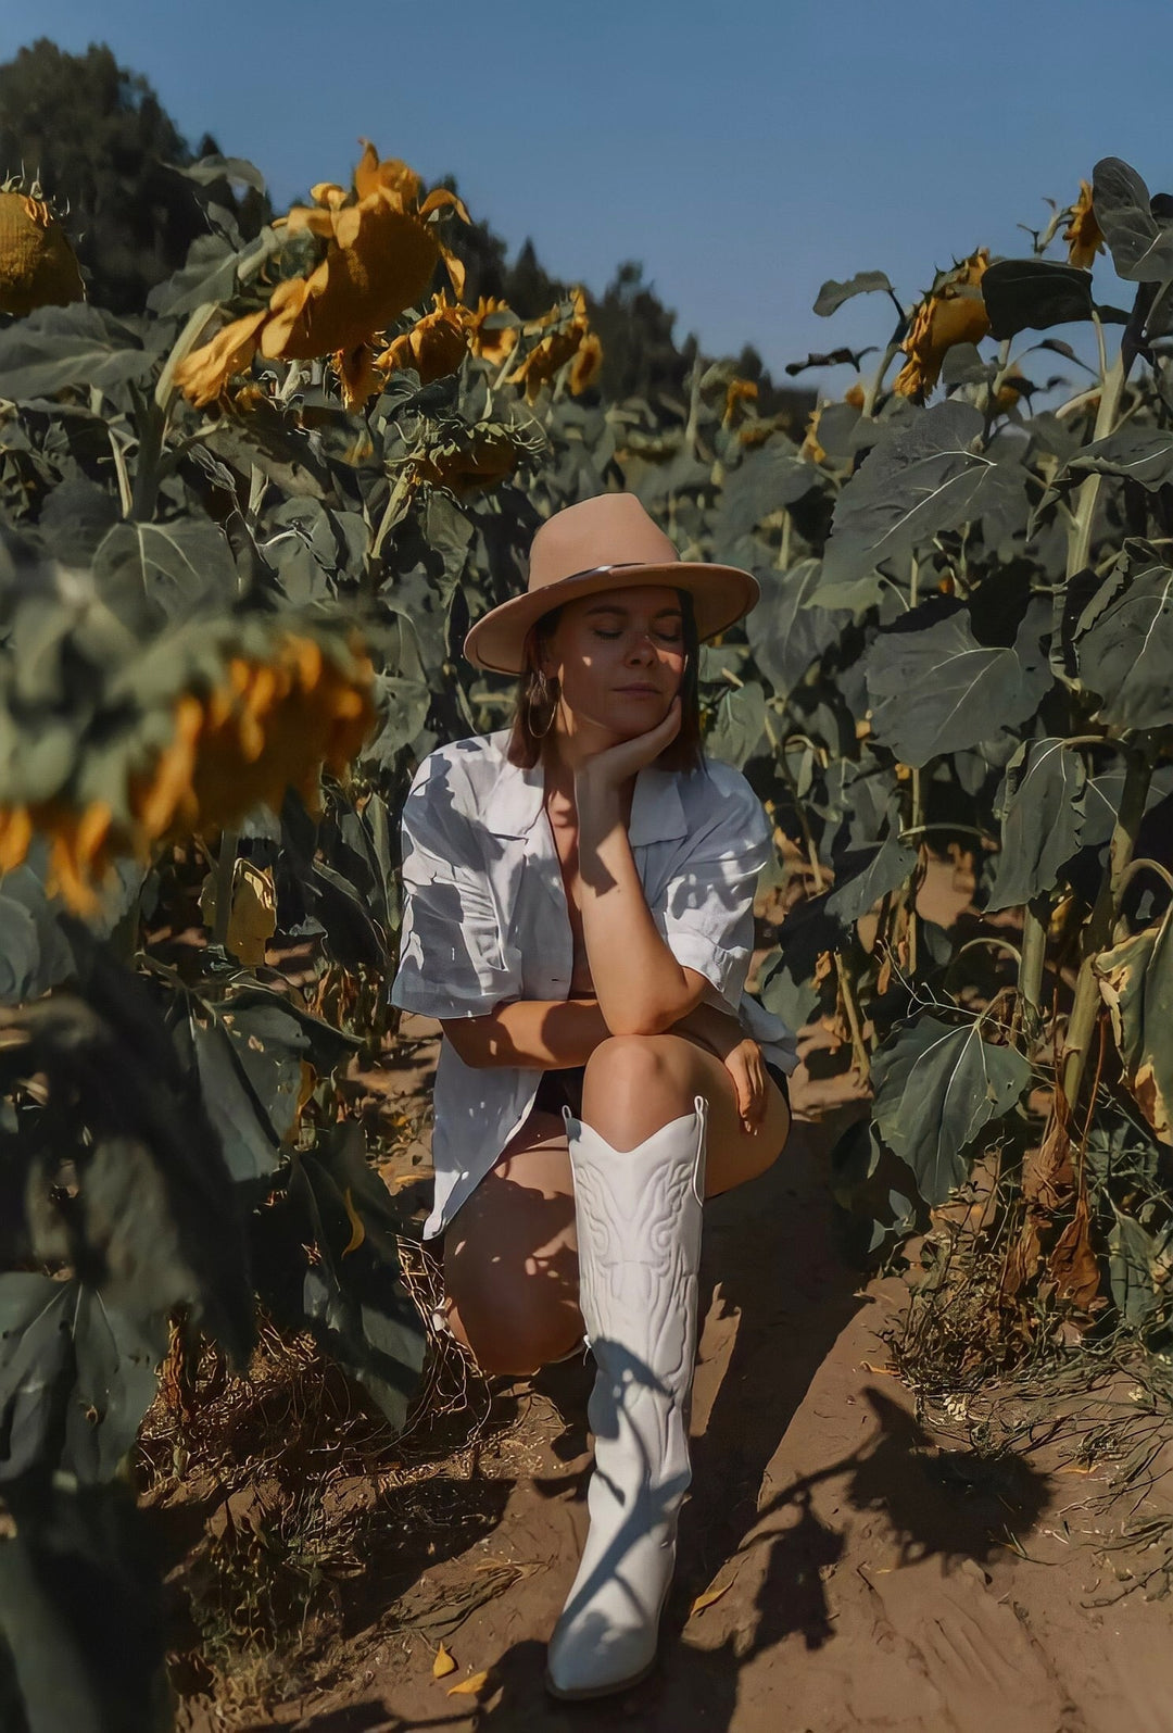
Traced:
<path fill-rule="evenodd" d="M 187 168 L 189 187 L 256 191 L 237 161 Z M 355 412 L 326 357 L 246 357 L 194 409 L 175 388 L 184 357 L 312 265 L 303 241 L 250 239 L 230 211 L 146 310 L 73 307 L 0 333 L 0 856 L 24 860 L 24 809 L 43 839 L 0 882 L 0 1437 L 17 1490 L 29 1473 L 104 1485 L 168 1319 L 185 1314 L 239 1366 L 253 1295 L 402 1423 L 423 1333 L 393 1201 L 338 1087 L 390 1033 L 399 806 L 423 754 L 509 712 L 509 685 L 461 660 L 468 622 L 522 587 L 544 516 L 608 487 L 657 511 L 684 558 L 742 563 L 762 586 L 745 627 L 705 646 L 702 707 L 709 749 L 745 769 L 813 879 L 762 998 L 795 1024 L 823 1017 L 872 1073 L 873 1121 L 833 1177 L 861 1251 L 923 1225 L 995 1144 L 1026 1175 L 1022 1151 L 1043 1146 L 1031 1085 L 1048 1085 L 1053 1185 L 1041 1227 L 1029 1194 L 1022 1282 L 1050 1270 L 1062 1298 L 1090 1222 L 1081 1291 L 1090 1260 L 1149 1340 L 1163 1327 L 1173 1083 L 1150 905 L 1168 886 L 1149 873 L 1142 901 L 1130 861 L 1149 837 L 1161 847 L 1173 768 L 1157 341 L 1173 263 L 1164 201 L 1135 172 L 1107 159 L 1095 187 L 1138 288 L 1098 390 L 1053 411 L 1033 412 L 1017 366 L 1045 345 L 1015 355 L 1014 340 L 1116 321 L 1085 274 L 1043 258 L 1057 224 L 1034 258 L 989 265 L 996 359 L 956 345 L 929 407 L 885 385 L 913 308 L 878 272 L 826 284 L 820 314 L 878 293 L 899 319 L 865 390 L 825 406 L 802 444 L 764 393 L 752 407 L 731 390 L 733 364 L 677 369 L 632 272 L 617 317 L 643 305 L 650 334 L 625 352 L 622 402 L 558 381 L 530 406 L 470 352 L 426 385 L 388 374 Z M 473 293 L 497 293 L 501 255 L 471 246 Z M 532 255 L 527 269 L 544 302 Z M 868 352 L 837 354 L 854 378 Z M 315 802 L 286 754 L 319 686 L 293 726 L 262 676 L 291 639 L 353 671 L 353 633 L 378 724 Z M 201 782 L 177 742 L 185 702 L 206 749 L 232 679 L 255 681 L 256 750 L 281 778 L 225 821 L 256 756 Z M 102 865 L 85 839 L 104 815 L 120 870 L 69 920 L 55 892 Z M 1021 912 L 977 944 L 972 917 L 946 929 L 918 908 L 949 847 L 969 851 L 977 917 Z M 168 944 L 196 891 L 204 941 Z M 295 946 L 296 988 L 274 962 Z M 1095 1073 L 1104 1002 L 1118 1045 Z M 1069 1125 L 1086 1125 L 1078 1173 Z M 1015 1198 L 1012 1234 L 1026 1178 Z M 0 1603 L 0 1691 L 16 1631 Z"/>

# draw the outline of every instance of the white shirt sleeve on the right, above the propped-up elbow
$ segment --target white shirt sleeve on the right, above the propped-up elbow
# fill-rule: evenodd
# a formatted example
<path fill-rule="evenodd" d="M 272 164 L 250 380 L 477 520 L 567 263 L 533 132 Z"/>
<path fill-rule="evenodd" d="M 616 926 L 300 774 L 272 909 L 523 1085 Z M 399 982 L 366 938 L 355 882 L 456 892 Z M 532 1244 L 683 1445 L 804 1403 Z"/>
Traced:
<path fill-rule="evenodd" d="M 683 969 L 695 969 L 729 1005 L 742 1000 L 754 948 L 754 892 L 769 860 L 769 823 L 740 778 L 714 789 L 707 821 L 688 839 L 651 910 Z"/>

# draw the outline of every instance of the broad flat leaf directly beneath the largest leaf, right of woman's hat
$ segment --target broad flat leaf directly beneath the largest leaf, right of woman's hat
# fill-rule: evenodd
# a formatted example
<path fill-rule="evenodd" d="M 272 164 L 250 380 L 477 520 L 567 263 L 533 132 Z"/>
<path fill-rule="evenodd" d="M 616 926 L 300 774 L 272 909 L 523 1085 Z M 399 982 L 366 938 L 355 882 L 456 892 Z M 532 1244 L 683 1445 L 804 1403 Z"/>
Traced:
<path fill-rule="evenodd" d="M 965 608 L 878 633 L 866 657 L 875 738 L 904 764 L 975 747 L 1024 723 L 1050 685 L 1038 645 L 979 645 Z"/>

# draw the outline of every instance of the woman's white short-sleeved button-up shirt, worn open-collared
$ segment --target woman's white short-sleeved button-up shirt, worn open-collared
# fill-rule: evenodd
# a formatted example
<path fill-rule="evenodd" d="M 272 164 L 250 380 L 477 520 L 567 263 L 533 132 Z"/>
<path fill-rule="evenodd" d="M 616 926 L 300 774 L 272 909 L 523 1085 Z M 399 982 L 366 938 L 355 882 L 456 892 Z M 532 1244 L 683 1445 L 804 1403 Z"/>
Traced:
<path fill-rule="evenodd" d="M 416 771 L 402 815 L 404 924 L 392 1003 L 428 1017 L 482 1017 L 506 1000 L 568 998 L 574 936 L 544 769 L 506 757 L 509 731 L 438 747 Z M 790 1073 L 787 1026 L 743 993 L 754 891 L 769 825 L 728 764 L 641 769 L 627 827 L 651 917 L 705 998 L 740 1017 L 762 1055 Z M 466 1066 L 440 1045 L 431 1156 L 435 1201 L 423 1234 L 444 1232 L 534 1106 L 542 1073 Z"/>

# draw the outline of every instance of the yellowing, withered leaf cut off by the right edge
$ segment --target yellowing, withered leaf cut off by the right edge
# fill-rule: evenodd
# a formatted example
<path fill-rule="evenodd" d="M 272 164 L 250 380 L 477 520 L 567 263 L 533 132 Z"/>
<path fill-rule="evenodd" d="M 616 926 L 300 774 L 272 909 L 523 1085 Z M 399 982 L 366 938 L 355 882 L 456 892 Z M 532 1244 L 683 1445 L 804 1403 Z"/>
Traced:
<path fill-rule="evenodd" d="M 1173 941 L 1164 920 L 1095 958 L 1128 1085 L 1163 1144 L 1173 1144 Z"/>

